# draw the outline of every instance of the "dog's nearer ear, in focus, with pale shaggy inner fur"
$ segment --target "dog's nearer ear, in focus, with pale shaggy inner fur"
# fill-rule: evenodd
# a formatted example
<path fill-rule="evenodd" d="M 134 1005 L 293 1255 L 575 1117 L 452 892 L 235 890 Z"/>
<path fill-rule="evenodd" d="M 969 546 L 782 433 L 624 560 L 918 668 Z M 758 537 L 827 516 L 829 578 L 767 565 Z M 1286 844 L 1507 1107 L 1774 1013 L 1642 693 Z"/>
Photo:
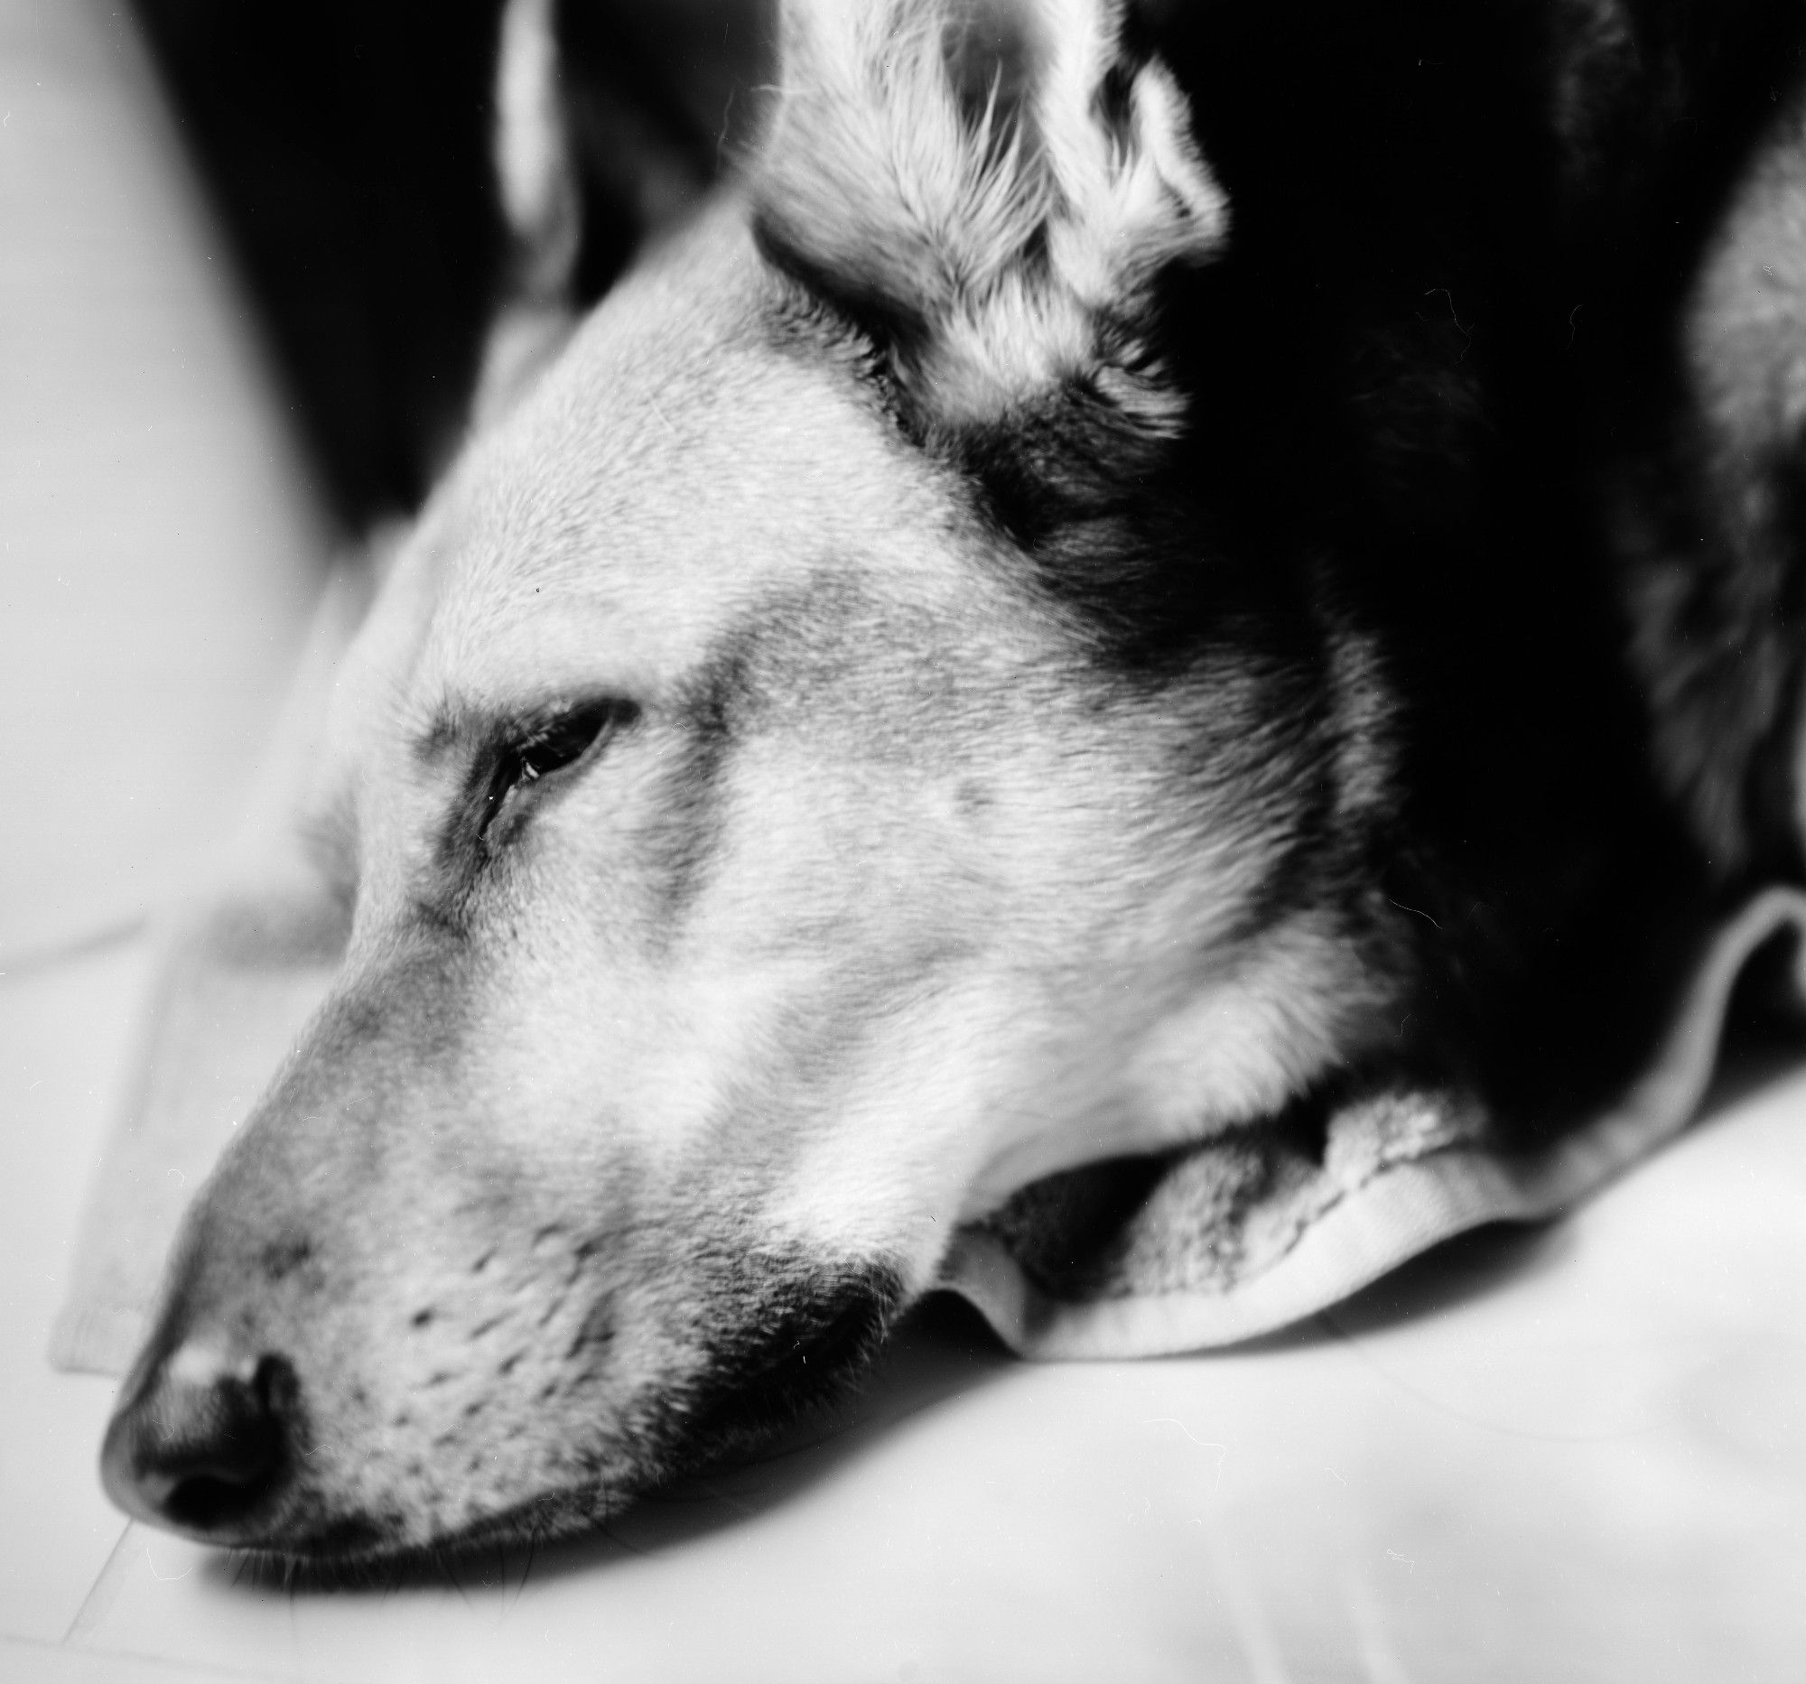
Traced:
<path fill-rule="evenodd" d="M 1082 390 L 1170 435 L 1156 287 L 1228 206 L 1120 0 L 791 0 L 766 255 L 880 343 L 928 435 Z"/>

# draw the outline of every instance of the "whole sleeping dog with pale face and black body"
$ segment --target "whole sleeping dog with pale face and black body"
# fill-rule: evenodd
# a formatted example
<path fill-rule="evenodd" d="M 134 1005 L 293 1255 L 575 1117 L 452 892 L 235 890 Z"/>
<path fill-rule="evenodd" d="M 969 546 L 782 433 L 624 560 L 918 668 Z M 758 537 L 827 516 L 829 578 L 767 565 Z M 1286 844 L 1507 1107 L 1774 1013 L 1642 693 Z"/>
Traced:
<path fill-rule="evenodd" d="M 1351 1071 L 1530 1142 L 1799 878 L 1801 20 L 793 0 L 591 313 L 520 284 L 336 685 L 347 956 L 103 1451 L 300 1558 L 592 1527 L 954 1229 Z"/>

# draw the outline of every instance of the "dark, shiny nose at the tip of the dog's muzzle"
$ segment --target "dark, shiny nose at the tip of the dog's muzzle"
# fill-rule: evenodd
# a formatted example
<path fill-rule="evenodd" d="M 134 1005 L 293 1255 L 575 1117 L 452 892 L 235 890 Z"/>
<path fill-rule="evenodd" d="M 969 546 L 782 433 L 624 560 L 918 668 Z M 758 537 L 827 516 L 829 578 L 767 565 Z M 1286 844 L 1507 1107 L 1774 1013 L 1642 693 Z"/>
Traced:
<path fill-rule="evenodd" d="M 215 1543 L 256 1534 L 291 1469 L 294 1371 L 182 1344 L 112 1418 L 107 1494 L 139 1520 Z"/>

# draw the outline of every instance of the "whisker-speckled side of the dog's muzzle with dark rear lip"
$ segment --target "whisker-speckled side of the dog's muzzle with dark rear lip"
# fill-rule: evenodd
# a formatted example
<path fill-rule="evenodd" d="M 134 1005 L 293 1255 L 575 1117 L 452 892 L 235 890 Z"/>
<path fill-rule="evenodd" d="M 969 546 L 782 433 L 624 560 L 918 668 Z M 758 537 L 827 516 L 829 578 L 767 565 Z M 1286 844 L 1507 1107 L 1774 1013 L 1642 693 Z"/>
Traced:
<path fill-rule="evenodd" d="M 901 1303 L 894 1268 L 717 1227 L 656 1258 L 560 1225 L 471 1258 L 464 1290 L 390 1321 L 381 1391 L 367 1371 L 321 1411 L 318 1523 L 390 1548 L 592 1527 L 833 1395 Z"/>

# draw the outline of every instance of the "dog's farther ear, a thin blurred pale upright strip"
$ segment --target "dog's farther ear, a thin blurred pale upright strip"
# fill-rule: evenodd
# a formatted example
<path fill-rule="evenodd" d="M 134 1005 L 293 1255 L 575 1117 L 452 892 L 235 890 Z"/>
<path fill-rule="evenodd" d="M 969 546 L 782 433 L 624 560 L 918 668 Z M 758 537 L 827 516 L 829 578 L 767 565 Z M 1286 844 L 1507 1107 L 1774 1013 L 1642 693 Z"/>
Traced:
<path fill-rule="evenodd" d="M 493 155 L 509 253 L 471 401 L 479 428 L 526 390 L 576 320 L 582 188 L 560 85 L 554 0 L 507 0 L 502 9 Z"/>

